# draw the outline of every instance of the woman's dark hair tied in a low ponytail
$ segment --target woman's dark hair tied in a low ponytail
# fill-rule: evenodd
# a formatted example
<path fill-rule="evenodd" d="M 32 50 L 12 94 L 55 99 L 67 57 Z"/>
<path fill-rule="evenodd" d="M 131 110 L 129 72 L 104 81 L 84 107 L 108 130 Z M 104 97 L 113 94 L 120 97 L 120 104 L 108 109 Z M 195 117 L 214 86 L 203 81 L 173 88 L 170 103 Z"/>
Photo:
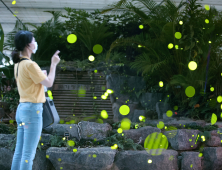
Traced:
<path fill-rule="evenodd" d="M 20 60 L 20 51 L 23 51 L 26 45 L 32 42 L 33 33 L 30 31 L 19 31 L 15 34 L 14 45 L 15 50 L 12 51 L 11 57 L 14 64 L 18 63 Z"/>

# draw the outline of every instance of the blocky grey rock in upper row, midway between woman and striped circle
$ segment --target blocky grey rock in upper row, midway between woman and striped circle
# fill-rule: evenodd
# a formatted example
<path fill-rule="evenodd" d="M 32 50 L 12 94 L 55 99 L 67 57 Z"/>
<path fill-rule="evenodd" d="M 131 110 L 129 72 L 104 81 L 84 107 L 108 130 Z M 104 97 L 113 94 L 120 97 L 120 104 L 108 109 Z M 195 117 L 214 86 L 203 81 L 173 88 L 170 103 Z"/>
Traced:
<path fill-rule="evenodd" d="M 82 121 L 81 127 L 81 139 L 95 139 L 97 141 L 103 140 L 107 137 L 108 131 L 112 131 L 112 127 L 108 123 L 96 123 L 89 121 Z"/>

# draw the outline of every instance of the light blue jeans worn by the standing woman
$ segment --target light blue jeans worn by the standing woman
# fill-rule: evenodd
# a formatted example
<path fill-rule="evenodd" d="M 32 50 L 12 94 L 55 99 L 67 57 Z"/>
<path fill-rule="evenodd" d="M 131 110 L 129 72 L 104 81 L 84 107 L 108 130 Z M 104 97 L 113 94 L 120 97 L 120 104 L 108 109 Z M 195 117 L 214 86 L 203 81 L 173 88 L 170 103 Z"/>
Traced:
<path fill-rule="evenodd" d="M 16 111 L 17 141 L 11 170 L 32 170 L 42 133 L 43 103 L 19 103 Z"/>

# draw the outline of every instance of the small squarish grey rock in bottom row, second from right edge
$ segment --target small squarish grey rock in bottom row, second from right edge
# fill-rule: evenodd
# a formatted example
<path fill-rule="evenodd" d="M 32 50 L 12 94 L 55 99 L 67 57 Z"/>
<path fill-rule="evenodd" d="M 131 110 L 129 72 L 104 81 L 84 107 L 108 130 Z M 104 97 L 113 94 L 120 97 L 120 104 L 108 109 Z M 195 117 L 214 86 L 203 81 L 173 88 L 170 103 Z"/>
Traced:
<path fill-rule="evenodd" d="M 183 152 L 181 169 L 183 170 L 202 170 L 201 157 L 199 157 L 199 152 Z M 192 167 L 191 167 L 192 166 Z"/>

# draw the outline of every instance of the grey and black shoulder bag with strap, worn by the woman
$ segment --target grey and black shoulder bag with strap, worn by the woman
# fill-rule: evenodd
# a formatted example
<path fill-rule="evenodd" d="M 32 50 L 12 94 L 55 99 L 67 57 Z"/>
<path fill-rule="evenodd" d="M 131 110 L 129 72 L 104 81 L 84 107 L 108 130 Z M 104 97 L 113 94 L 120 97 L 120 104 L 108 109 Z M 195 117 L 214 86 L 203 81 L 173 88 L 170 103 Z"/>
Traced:
<path fill-rule="evenodd" d="M 23 60 L 29 60 L 29 59 L 23 58 L 19 61 L 19 63 Z M 18 63 L 18 67 L 19 67 L 19 63 Z M 18 77 L 18 67 L 17 67 L 17 77 Z M 46 102 L 43 103 L 43 113 L 42 113 L 42 117 L 43 117 L 42 128 L 43 129 L 49 127 L 50 125 L 58 124 L 60 121 L 54 102 L 52 99 L 48 97 L 47 87 L 45 86 L 44 86 L 44 91 L 46 92 L 45 95 L 47 97 L 46 97 Z"/>

